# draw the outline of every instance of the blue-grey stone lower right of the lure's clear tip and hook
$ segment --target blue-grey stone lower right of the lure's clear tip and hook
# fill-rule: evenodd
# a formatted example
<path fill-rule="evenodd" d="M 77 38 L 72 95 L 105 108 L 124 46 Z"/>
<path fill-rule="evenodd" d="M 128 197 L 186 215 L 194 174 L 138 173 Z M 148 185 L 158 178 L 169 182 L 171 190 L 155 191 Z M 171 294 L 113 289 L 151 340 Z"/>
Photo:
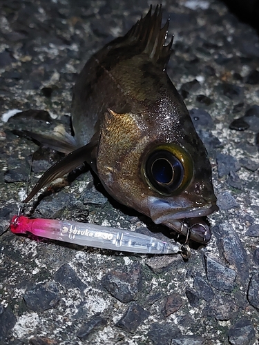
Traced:
<path fill-rule="evenodd" d="M 206 274 L 210 284 L 214 288 L 222 291 L 233 290 L 236 280 L 236 272 L 222 265 L 220 262 L 215 261 L 212 257 L 206 258 Z"/>

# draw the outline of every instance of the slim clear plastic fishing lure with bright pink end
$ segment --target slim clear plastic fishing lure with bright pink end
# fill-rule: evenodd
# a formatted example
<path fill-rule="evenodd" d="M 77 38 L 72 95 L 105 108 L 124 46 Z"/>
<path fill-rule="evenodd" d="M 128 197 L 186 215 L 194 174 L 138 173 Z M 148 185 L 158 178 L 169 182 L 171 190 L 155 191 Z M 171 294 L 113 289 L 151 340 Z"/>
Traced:
<path fill-rule="evenodd" d="M 142 254 L 176 254 L 181 250 L 175 244 L 155 237 L 109 226 L 61 221 L 57 219 L 29 219 L 23 215 L 12 217 L 12 233 L 32 233 L 39 237 L 56 239 L 81 246 L 119 250 Z"/>

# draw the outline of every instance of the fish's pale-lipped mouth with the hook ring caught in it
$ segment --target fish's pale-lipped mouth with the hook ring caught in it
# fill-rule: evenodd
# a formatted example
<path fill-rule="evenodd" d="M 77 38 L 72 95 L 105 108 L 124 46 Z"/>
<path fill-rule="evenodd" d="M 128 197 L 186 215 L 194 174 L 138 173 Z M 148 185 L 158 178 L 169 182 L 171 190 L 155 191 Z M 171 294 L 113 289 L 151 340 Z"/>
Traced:
<path fill-rule="evenodd" d="M 153 204 L 153 203 L 152 203 Z M 160 210 L 154 207 L 160 205 Z M 218 210 L 215 201 L 199 207 L 173 209 L 167 201 L 155 202 L 149 209 L 155 224 L 164 224 L 195 242 L 207 244 L 211 239 L 211 229 L 207 216 Z M 169 207 L 171 206 L 171 207 Z M 153 211 L 153 212 L 152 212 Z"/>

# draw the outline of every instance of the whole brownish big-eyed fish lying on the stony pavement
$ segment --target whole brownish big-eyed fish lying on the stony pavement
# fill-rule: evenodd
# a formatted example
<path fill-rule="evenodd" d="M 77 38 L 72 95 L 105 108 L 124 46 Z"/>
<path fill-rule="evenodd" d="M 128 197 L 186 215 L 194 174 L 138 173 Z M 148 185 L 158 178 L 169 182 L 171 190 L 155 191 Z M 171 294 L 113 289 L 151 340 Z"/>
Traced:
<path fill-rule="evenodd" d="M 123 37 L 90 57 L 73 89 L 75 135 L 55 138 L 55 149 L 60 141 L 67 155 L 44 173 L 24 202 L 88 164 L 120 204 L 195 242 L 209 242 L 206 217 L 218 210 L 211 164 L 166 72 L 173 45 L 173 37 L 166 44 L 168 30 L 169 19 L 162 26 L 162 6 L 151 6 Z M 45 141 L 51 146 L 51 138 Z"/>

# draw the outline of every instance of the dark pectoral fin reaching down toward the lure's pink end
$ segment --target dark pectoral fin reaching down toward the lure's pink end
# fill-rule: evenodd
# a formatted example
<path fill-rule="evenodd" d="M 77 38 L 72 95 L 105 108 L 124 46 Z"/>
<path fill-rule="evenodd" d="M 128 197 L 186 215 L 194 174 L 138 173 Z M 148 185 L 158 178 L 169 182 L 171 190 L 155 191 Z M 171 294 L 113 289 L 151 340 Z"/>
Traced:
<path fill-rule="evenodd" d="M 28 197 L 23 200 L 23 202 L 30 201 L 32 197 L 34 197 L 39 192 L 39 190 L 41 190 L 41 188 L 43 188 L 47 184 L 50 184 L 50 182 L 54 181 L 55 179 L 68 174 L 68 172 L 72 171 L 78 166 L 81 166 L 81 164 L 83 164 L 85 161 L 88 164 L 92 165 L 92 153 L 93 151 L 95 151 L 96 146 L 96 141 L 90 141 L 90 143 L 70 152 L 66 157 L 51 166 L 46 172 L 44 172 L 44 175 L 42 175 L 39 181 L 37 181 L 37 184 L 34 188 L 32 188 L 32 191 L 30 192 Z"/>

